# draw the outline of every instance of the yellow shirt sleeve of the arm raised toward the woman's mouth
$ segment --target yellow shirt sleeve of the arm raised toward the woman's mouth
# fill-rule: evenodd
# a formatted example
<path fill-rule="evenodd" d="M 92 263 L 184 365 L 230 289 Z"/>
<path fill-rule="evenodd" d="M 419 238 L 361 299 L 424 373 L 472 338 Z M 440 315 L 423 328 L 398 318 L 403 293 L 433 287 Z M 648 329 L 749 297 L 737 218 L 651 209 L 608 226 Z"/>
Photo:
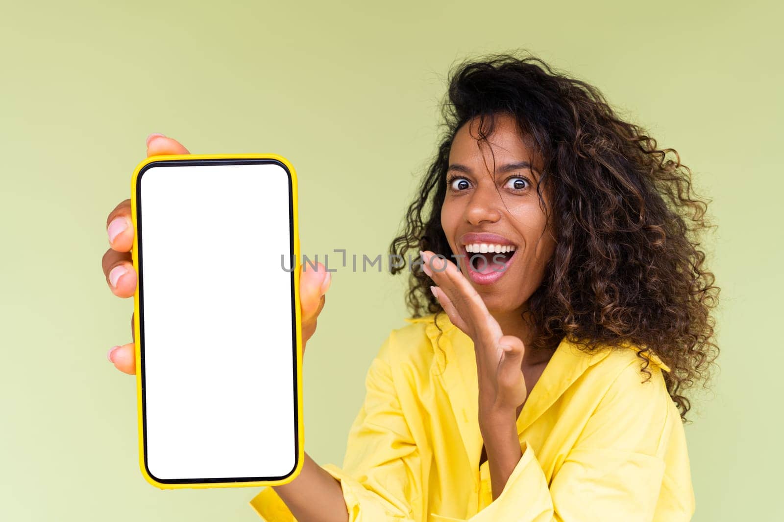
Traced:
<path fill-rule="evenodd" d="M 491 522 L 681 522 L 693 509 L 659 505 L 665 460 L 659 451 L 672 422 L 660 370 L 641 383 L 627 366 L 601 399 L 550 484 L 528 441 L 497 499 L 468 519 Z"/>

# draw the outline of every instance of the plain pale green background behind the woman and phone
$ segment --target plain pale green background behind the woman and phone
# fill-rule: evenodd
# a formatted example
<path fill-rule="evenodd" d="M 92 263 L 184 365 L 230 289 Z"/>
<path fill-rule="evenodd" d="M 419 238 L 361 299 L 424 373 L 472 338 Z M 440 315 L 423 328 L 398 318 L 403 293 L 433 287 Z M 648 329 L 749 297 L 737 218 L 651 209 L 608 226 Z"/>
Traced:
<path fill-rule="evenodd" d="M 456 60 L 529 49 L 681 153 L 717 232 L 720 373 L 686 427 L 694 520 L 782 516 L 782 9 L 777 2 L 9 2 L 2 82 L 2 520 L 259 520 L 259 488 L 160 491 L 138 466 L 132 299 L 100 260 L 151 132 L 278 153 L 303 253 L 385 253 Z M 194 212 L 198 209 L 194 208 Z M 262 231 L 260 230 L 260 233 Z M 199 246 L 183 252 L 198 262 Z M 242 269 L 253 276 L 252 261 Z M 341 463 L 400 277 L 332 275 L 304 365 L 306 449 Z"/>

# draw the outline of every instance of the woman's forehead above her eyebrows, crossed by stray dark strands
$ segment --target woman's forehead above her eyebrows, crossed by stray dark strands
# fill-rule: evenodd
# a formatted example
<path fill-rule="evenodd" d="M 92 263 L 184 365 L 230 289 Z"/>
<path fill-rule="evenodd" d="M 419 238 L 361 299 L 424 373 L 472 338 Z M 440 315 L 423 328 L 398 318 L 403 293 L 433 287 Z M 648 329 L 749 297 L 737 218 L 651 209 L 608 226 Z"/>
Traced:
<path fill-rule="evenodd" d="M 494 129 L 488 135 L 487 142 L 479 141 L 479 117 L 463 124 L 452 140 L 449 149 L 450 163 L 488 162 L 492 166 L 492 157 L 495 163 L 501 160 L 528 160 L 535 162 L 535 153 L 530 139 L 521 135 L 514 117 L 507 114 L 495 114 Z M 489 124 L 489 117 L 485 117 L 485 131 Z M 492 149 L 492 152 L 491 152 Z"/>

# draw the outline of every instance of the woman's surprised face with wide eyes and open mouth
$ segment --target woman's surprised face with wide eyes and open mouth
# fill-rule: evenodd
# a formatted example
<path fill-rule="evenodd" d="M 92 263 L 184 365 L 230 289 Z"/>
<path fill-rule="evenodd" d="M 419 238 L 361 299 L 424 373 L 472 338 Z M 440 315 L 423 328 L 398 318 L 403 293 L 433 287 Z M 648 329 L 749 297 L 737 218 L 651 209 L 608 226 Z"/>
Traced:
<path fill-rule="evenodd" d="M 513 117 L 495 115 L 495 131 L 488 136 L 492 153 L 487 142 L 477 141 L 477 124 L 477 119 L 464 124 L 452 141 L 441 226 L 455 254 L 451 261 L 488 311 L 519 311 L 542 283 L 555 249 L 536 193 L 542 160 L 521 138 Z M 543 198 L 549 209 L 546 191 Z"/>

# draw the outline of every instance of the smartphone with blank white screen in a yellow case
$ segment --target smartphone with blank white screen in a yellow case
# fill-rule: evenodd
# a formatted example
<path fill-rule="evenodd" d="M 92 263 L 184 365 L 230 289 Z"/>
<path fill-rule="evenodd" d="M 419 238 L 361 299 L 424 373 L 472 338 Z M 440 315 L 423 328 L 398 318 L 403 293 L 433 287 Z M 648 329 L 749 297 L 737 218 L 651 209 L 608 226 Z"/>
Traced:
<path fill-rule="evenodd" d="M 133 173 L 139 455 L 157 488 L 299 474 L 296 186 L 275 154 L 152 156 Z"/>

